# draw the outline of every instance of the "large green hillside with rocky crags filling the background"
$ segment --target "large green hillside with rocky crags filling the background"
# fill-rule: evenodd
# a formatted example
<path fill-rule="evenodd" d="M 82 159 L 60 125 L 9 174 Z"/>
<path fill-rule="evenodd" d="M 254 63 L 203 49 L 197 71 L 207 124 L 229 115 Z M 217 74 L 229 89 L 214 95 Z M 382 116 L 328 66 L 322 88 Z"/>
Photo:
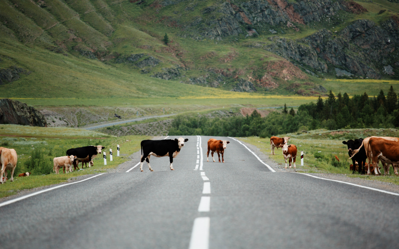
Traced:
<path fill-rule="evenodd" d="M 159 84 L 151 78 L 318 95 L 292 89 L 325 77 L 399 77 L 396 0 L 0 0 L 0 9 L 6 95 L 29 97 L 44 82 L 56 88 L 41 97 L 89 95 L 104 79 L 99 67 L 113 71 L 94 91 L 117 82 L 121 95 L 137 96 Z"/>

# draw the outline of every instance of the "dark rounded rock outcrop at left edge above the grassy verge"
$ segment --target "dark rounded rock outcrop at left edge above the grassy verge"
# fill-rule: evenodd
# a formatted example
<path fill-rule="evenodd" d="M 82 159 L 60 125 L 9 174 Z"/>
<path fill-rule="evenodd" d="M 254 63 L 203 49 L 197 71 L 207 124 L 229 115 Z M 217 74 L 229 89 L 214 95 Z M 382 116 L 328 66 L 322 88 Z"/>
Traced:
<path fill-rule="evenodd" d="M 25 103 L 0 99 L 0 124 L 22 124 L 47 127 L 44 116 Z"/>

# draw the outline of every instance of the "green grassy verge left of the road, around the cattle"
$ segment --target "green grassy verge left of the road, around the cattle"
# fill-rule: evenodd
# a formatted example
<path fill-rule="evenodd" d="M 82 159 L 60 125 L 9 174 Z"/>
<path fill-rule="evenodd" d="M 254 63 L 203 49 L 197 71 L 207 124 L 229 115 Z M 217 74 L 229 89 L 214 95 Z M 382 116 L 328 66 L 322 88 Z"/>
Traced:
<path fill-rule="evenodd" d="M 4 135 L 3 130 L 14 130 Z M 67 132 L 66 132 L 67 130 Z M 69 133 L 71 132 L 71 133 Z M 0 198 L 16 194 L 24 189 L 32 189 L 48 186 L 67 181 L 69 178 L 106 172 L 107 169 L 115 168 L 117 165 L 128 160 L 128 155 L 140 149 L 140 141 L 148 139 L 149 136 L 121 136 L 113 137 L 107 134 L 73 128 L 43 128 L 21 125 L 0 125 L 0 146 L 14 148 L 18 155 L 18 162 L 14 172 L 14 181 L 9 179 L 0 185 Z M 56 175 L 51 172 L 45 175 L 31 175 L 29 177 L 15 177 L 19 173 L 26 172 L 25 162 L 32 156 L 33 150 L 41 151 L 46 163 L 51 164 L 56 156 L 65 155 L 68 148 L 87 145 L 103 145 L 107 153 L 107 165 L 104 165 L 103 157 L 98 155 L 93 161 L 94 166 L 83 168 L 72 173 Z M 117 144 L 120 145 L 120 156 L 116 156 Z M 109 149 L 113 150 L 113 161 L 109 161 Z M 79 164 L 81 165 L 81 164 Z M 81 168 L 81 167 L 80 167 Z M 52 171 L 52 170 L 51 170 Z M 8 173 L 8 178 L 9 178 Z"/>

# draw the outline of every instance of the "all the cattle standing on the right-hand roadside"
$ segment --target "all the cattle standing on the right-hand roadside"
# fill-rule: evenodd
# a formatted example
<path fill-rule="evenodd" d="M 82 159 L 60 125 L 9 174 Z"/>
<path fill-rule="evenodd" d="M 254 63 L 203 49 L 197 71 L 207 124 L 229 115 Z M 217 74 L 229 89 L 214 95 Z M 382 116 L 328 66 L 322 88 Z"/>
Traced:
<path fill-rule="evenodd" d="M 283 155 L 285 159 L 285 168 L 287 168 L 287 160 L 289 167 L 291 168 L 291 161 L 294 163 L 297 154 L 297 148 L 294 144 L 288 145 L 288 139 L 290 137 L 270 137 L 271 154 L 274 155 L 274 148 L 283 148 Z M 371 173 L 375 175 L 381 175 L 379 162 L 383 164 L 384 175 L 389 174 L 390 165 L 394 168 L 394 173 L 398 175 L 399 168 L 399 138 L 390 136 L 371 136 L 365 139 L 359 138 L 355 140 L 342 141 L 343 144 L 348 146 L 348 154 L 352 159 L 353 164 L 350 165 L 350 169 L 358 169 L 360 174 Z M 337 160 L 338 157 L 336 156 Z M 368 160 L 368 163 L 366 162 Z"/>

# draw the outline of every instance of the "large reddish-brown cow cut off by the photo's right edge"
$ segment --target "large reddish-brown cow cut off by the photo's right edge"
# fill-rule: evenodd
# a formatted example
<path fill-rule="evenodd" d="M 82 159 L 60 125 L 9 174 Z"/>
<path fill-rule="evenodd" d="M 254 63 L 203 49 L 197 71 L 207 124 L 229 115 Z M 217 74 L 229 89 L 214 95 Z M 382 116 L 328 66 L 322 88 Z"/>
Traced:
<path fill-rule="evenodd" d="M 389 164 L 399 163 L 399 142 L 384 138 L 371 137 L 369 139 L 369 147 L 371 149 L 373 166 L 376 175 L 378 175 L 377 167 L 379 160 L 383 162 L 385 175 L 387 175 L 387 173 L 389 174 Z M 394 166 L 394 169 L 395 168 L 396 167 Z M 367 173 L 370 174 L 370 168 Z"/>

